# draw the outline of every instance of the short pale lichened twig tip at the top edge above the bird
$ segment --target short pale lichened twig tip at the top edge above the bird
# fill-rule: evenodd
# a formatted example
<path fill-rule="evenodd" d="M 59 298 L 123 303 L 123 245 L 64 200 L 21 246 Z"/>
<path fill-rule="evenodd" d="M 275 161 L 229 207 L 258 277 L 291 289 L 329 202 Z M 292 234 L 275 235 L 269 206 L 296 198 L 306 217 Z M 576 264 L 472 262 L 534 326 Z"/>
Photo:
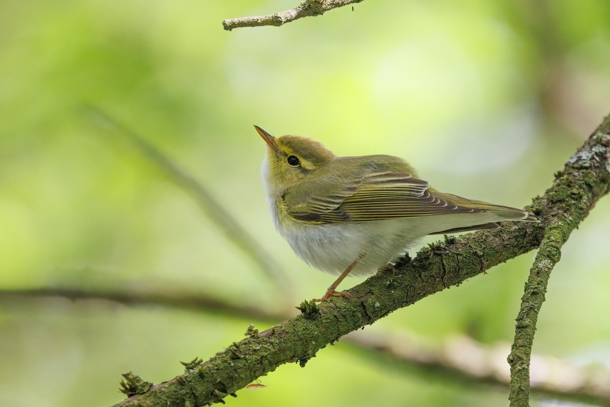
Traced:
<path fill-rule="evenodd" d="M 295 8 L 271 15 L 231 18 L 223 21 L 227 31 L 239 27 L 281 26 L 301 17 L 323 15 L 328 10 L 344 5 L 359 3 L 362 0 L 305 0 Z"/>

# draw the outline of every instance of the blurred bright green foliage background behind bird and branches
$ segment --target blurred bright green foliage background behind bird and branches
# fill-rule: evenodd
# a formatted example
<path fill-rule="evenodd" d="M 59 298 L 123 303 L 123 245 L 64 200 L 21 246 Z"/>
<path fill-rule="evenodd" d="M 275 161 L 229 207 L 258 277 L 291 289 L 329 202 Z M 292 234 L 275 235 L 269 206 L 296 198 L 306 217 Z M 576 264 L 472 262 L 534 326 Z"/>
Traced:
<path fill-rule="evenodd" d="M 0 289 L 188 292 L 296 314 L 333 277 L 273 228 L 259 168 L 271 134 L 339 155 L 394 154 L 440 190 L 522 207 L 610 112 L 610 2 L 365 1 L 283 27 L 221 21 L 276 1 L 0 5 Z M 96 106 L 198 179 L 279 264 L 283 289 Z M 95 116 L 95 115 L 93 115 Z M 610 367 L 607 198 L 553 271 L 534 352 Z M 511 342 L 533 253 L 367 331 Z M 360 283 L 350 278 L 342 288 Z M 606 311 L 603 311 L 606 310 Z M 2 297 L 0 405 L 105 406 L 120 373 L 159 383 L 259 321 L 104 300 Z M 342 342 L 229 406 L 506 405 Z M 532 405 L 542 406 L 542 398 Z"/>

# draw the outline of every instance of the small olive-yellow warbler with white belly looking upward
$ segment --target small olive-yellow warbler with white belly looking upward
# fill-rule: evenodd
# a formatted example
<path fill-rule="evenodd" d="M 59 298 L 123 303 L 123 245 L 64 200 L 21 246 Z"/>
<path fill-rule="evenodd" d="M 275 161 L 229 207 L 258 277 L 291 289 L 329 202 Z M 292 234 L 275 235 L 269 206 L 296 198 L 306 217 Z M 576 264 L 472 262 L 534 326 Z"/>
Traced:
<path fill-rule="evenodd" d="M 337 157 L 307 137 L 254 128 L 267 143 L 261 174 L 276 229 L 304 262 L 339 275 L 314 301 L 351 297 L 335 291 L 345 276 L 375 272 L 426 235 L 539 222 L 522 209 L 432 189 L 399 157 Z"/>

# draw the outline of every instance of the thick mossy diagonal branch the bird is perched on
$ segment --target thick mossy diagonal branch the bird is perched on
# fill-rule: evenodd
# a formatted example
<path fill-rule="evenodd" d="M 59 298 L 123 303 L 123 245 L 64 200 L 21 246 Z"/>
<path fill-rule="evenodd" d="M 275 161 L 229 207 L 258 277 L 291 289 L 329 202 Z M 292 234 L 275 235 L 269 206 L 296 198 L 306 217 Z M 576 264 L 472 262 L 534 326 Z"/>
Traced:
<path fill-rule="evenodd" d="M 202 364 L 188 364 L 184 375 L 151 386 L 116 406 L 205 405 L 245 387 L 281 364 L 301 366 L 318 350 L 361 326 L 415 303 L 540 245 L 545 227 L 580 224 L 610 190 L 610 116 L 556 174 L 544 196 L 529 208 L 542 223 L 506 223 L 498 231 L 467 234 L 403 259 L 395 273 L 378 273 L 350 290 L 353 296 L 328 303 L 301 304 L 304 312 L 234 342 Z M 572 228 L 565 229 L 566 240 Z"/>

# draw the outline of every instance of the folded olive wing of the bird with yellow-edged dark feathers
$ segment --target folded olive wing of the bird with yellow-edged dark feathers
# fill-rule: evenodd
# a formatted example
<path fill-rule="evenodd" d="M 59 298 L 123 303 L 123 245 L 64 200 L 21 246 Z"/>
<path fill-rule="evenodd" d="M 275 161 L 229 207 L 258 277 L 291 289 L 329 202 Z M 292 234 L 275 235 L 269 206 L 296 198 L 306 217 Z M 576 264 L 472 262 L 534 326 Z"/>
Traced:
<path fill-rule="evenodd" d="M 314 194 L 301 196 L 305 199 L 285 196 L 288 214 L 295 220 L 321 224 L 481 213 L 493 206 L 481 203 L 484 207 L 472 207 L 452 203 L 438 196 L 440 193 L 435 195 L 436 192 L 429 190 L 428 182 L 400 172 L 370 171 L 350 179 L 334 179 L 328 184 L 327 187 L 325 181 L 321 181 Z"/>

